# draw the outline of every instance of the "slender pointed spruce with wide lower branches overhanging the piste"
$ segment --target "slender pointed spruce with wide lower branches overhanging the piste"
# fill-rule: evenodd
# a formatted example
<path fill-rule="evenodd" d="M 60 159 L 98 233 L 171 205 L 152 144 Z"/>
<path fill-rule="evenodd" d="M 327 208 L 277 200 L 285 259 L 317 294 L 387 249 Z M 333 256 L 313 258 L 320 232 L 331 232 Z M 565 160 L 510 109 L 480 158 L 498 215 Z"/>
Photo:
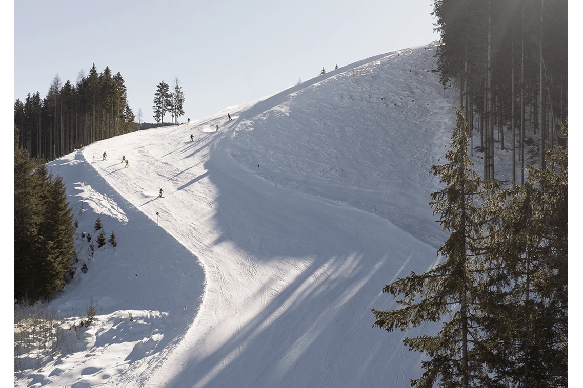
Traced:
<path fill-rule="evenodd" d="M 433 193 L 430 202 L 439 223 L 451 234 L 438 254 L 445 261 L 426 273 L 411 275 L 387 284 L 382 290 L 393 297 L 402 308 L 392 311 L 372 309 L 374 326 L 392 332 L 419 326 L 424 322 L 442 322 L 436 336 L 406 337 L 411 350 L 423 352 L 429 359 L 422 362 L 426 371 L 412 380 L 415 387 L 490 386 L 493 381 L 484 365 L 484 350 L 480 343 L 477 305 L 480 296 L 480 277 L 483 264 L 476 254 L 476 239 L 483 227 L 483 216 L 476 206 L 476 195 L 482 190 L 479 176 L 473 172 L 468 157 L 466 122 L 457 112 L 457 125 L 452 134 L 452 150 L 447 152 L 449 163 L 433 166 L 431 172 L 441 177 L 445 188 Z M 447 320 L 446 317 L 449 316 Z"/>

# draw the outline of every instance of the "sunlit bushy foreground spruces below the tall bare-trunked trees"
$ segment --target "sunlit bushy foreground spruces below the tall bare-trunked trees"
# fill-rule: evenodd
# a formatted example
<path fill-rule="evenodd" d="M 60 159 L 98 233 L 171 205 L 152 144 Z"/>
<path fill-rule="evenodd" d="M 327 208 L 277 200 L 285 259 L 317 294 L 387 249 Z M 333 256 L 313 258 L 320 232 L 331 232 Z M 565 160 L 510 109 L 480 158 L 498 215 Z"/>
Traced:
<path fill-rule="evenodd" d="M 565 129 L 566 130 L 566 129 Z M 445 188 L 431 207 L 450 236 L 444 260 L 382 290 L 399 308 L 373 309 L 392 332 L 439 322 L 437 334 L 406 337 L 426 355 L 421 387 L 568 386 L 568 152 L 547 151 L 523 186 L 480 179 L 468 156 L 462 113 L 448 163 L 433 166 Z"/>

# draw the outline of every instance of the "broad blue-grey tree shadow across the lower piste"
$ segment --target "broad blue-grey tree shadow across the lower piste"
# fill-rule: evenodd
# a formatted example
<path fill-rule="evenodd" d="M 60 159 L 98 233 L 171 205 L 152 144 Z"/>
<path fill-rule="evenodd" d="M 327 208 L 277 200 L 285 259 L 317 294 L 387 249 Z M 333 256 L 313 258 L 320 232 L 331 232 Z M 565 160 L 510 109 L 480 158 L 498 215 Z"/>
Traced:
<path fill-rule="evenodd" d="M 280 262 L 297 275 L 261 279 L 248 306 L 271 300 L 251 318 L 234 311 L 230 319 L 247 321 L 210 354 L 182 360 L 169 386 L 408 385 L 411 376 L 402 371 L 419 372 L 420 355 L 406 350 L 403 334 L 371 328 L 370 308 L 394 307 L 380 297 L 384 284 L 426 270 L 434 248 L 370 213 L 226 176 L 212 162 L 205 168 L 219 191 L 214 218 L 222 235 L 215 244 L 228 241 L 258 265 Z M 222 325 L 228 331 L 233 322 L 207 334 Z"/>

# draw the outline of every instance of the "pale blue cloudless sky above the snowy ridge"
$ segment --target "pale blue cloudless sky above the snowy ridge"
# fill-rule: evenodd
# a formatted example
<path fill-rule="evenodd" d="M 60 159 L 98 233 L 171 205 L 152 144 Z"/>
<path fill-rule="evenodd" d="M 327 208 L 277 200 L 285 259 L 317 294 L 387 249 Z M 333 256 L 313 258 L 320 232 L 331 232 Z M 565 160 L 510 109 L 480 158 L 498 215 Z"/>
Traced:
<path fill-rule="evenodd" d="M 120 72 L 134 113 L 154 122 L 157 84 L 181 81 L 202 119 L 309 80 L 322 67 L 438 40 L 432 0 L 19 0 L 14 95 L 45 97 L 58 73 Z M 170 116 L 164 116 L 170 121 Z"/>

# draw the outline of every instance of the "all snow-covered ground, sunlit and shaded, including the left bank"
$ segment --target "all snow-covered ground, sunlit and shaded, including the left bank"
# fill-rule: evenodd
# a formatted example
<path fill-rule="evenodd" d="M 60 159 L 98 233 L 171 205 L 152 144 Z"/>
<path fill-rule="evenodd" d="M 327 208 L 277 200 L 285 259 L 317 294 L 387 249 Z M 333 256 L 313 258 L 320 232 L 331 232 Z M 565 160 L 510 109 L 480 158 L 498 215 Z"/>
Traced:
<path fill-rule="evenodd" d="M 75 279 L 49 304 L 65 354 L 15 361 L 15 387 L 408 387 L 422 355 L 403 337 L 431 326 L 387 333 L 370 309 L 395 308 L 382 287 L 430 269 L 447 239 L 429 170 L 458 102 L 436 48 L 49 163 L 78 234 L 94 239 L 100 216 L 117 248 L 91 257 L 78 236 Z M 93 324 L 69 329 L 90 304 Z"/>

